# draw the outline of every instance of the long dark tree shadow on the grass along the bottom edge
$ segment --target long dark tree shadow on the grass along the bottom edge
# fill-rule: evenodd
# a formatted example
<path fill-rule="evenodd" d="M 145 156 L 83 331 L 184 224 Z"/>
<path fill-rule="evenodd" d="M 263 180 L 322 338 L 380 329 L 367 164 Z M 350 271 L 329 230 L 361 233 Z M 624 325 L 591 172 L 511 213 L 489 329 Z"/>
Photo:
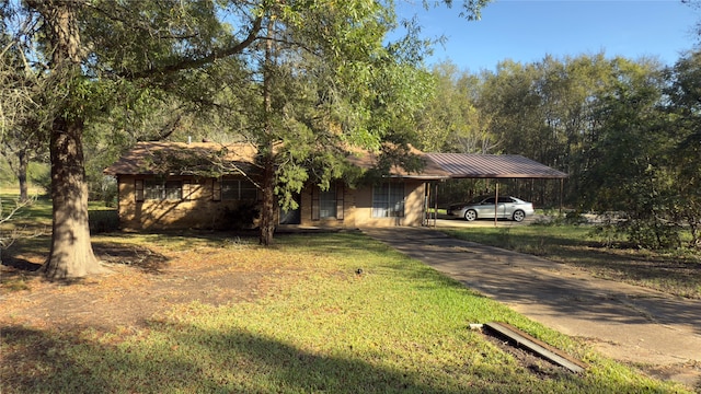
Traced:
<path fill-rule="evenodd" d="M 505 366 L 503 360 L 458 369 L 447 378 L 420 372 L 421 367 L 371 361 L 352 346 L 329 356 L 233 327 L 209 331 L 195 325 L 156 324 L 161 339 L 97 341 L 76 333 L 4 327 L 3 392 L 30 393 L 482 393 L 568 392 L 594 386 L 606 392 L 636 392 L 644 383 L 564 378 L 539 382 Z M 591 380 L 595 380 L 593 382 Z M 541 385 L 542 383 L 542 385 Z M 552 384 L 551 384 L 552 383 Z M 621 386 L 624 384 L 624 386 Z M 630 385 L 630 386 L 628 386 Z M 530 389 L 528 389 L 530 387 Z"/>

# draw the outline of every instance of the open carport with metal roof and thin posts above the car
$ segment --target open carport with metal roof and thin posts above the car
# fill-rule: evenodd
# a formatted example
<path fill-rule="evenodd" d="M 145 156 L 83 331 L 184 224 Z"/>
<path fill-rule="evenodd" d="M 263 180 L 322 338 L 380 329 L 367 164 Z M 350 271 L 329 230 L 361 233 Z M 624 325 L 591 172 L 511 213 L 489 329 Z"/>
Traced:
<path fill-rule="evenodd" d="M 560 179 L 560 211 L 562 212 L 562 194 L 566 173 L 549 167 L 519 154 L 468 154 L 468 153 L 426 153 L 426 158 L 448 173 L 448 179 L 479 178 L 496 179 L 495 201 L 498 201 L 499 183 L 503 178 L 521 179 Z M 438 194 L 435 184 L 434 196 Z M 430 187 L 426 198 L 430 200 Z M 434 198 L 434 216 L 427 216 L 427 224 L 433 219 L 434 225 L 438 215 L 438 199 Z M 495 202 L 496 204 L 496 202 Z M 494 219 L 496 225 L 496 218 Z"/>

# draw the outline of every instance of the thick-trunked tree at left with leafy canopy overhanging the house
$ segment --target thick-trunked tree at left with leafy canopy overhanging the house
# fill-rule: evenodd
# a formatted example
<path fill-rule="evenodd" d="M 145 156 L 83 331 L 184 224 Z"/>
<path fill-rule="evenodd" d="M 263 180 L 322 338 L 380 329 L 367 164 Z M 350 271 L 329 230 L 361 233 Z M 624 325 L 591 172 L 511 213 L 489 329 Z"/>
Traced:
<path fill-rule="evenodd" d="M 461 13 L 476 18 L 485 3 L 464 0 Z M 12 43 L 30 60 L 26 70 L 46 80 L 46 95 L 33 101 L 50 151 L 54 227 L 45 268 L 54 278 L 99 270 L 88 230 L 83 140 L 105 129 L 126 137 L 124 147 L 139 139 L 105 127 L 111 118 L 149 113 L 142 104 L 182 111 L 161 123 L 165 128 L 192 113 L 216 114 L 261 148 L 268 169 L 277 169 L 271 174 L 277 181 L 264 187 L 278 187 L 285 201 L 287 185 L 298 187 L 308 164 L 317 169 L 321 185 L 337 175 L 327 170 L 335 169 L 336 155 L 320 153 L 307 141 L 329 147 L 326 136 L 377 147 L 407 127 L 405 114 L 413 111 L 404 109 L 416 101 L 403 99 L 423 91 L 414 83 L 423 81 L 421 73 L 401 60 L 406 54 L 417 59 L 422 49 L 412 38 L 384 43 L 384 34 L 395 27 L 391 0 L 26 0 L 0 5 L 3 43 Z M 271 59 L 266 48 L 273 43 Z M 7 92 L 3 84 L 3 99 Z M 21 95 L 26 97 L 32 96 Z M 4 106 L 1 119 L 8 119 Z M 106 138 L 89 138 L 96 152 L 107 149 Z M 290 138 L 301 140 L 289 143 Z M 285 142 L 281 151 L 276 141 Z M 273 158 L 274 151 L 280 153 Z"/>

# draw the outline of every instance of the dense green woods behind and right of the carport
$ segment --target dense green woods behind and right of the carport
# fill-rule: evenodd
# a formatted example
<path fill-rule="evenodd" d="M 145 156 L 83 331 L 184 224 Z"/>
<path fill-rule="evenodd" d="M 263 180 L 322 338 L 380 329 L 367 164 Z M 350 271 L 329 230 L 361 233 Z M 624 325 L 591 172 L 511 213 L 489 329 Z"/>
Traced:
<path fill-rule="evenodd" d="M 689 53 L 665 68 L 604 54 L 545 56 L 460 79 L 443 65 L 422 119 L 446 121 L 420 136 L 423 147 L 455 151 L 462 132 L 455 125 L 489 119 L 484 130 L 498 141 L 492 153 L 522 154 L 570 174 L 568 206 L 611 218 L 612 231 L 643 247 L 677 247 L 685 230 L 698 247 L 700 59 Z M 555 183 L 505 184 L 539 205 L 559 200 Z"/>

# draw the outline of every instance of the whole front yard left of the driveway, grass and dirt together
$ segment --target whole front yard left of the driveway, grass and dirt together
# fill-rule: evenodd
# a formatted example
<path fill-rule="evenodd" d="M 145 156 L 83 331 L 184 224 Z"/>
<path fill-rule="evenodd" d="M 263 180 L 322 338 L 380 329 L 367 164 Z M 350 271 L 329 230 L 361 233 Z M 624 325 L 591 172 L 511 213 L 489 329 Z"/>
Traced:
<path fill-rule="evenodd" d="M 93 239 L 112 274 L 73 283 L 3 266 L 2 393 L 683 392 L 349 232 Z M 37 267 L 46 239 L 5 256 Z M 16 265 L 16 264 L 15 264 Z M 515 325 L 589 368 L 513 351 Z"/>

